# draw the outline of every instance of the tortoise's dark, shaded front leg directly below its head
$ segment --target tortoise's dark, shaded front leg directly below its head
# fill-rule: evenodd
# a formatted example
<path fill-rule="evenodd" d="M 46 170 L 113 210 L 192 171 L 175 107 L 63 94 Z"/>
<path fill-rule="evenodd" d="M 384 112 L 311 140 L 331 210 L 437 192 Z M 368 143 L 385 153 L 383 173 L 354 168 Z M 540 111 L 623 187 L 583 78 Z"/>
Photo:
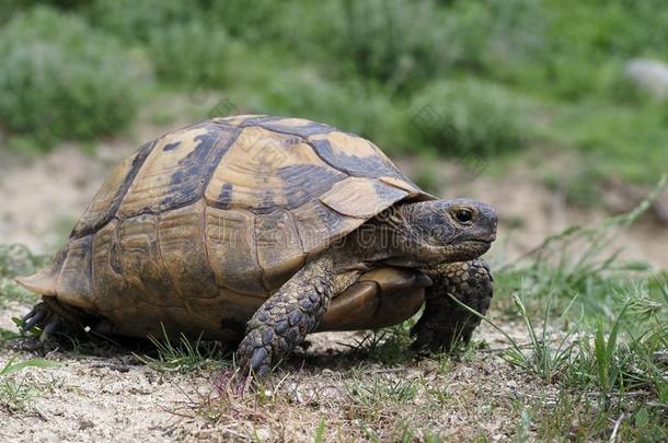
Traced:
<path fill-rule="evenodd" d="M 468 343 L 481 318 L 458 305 L 448 294 L 485 314 L 493 292 L 490 266 L 484 260 L 444 264 L 423 270 L 434 284 L 425 291 L 425 312 L 411 331 L 418 350 L 450 350 L 460 339 Z"/>

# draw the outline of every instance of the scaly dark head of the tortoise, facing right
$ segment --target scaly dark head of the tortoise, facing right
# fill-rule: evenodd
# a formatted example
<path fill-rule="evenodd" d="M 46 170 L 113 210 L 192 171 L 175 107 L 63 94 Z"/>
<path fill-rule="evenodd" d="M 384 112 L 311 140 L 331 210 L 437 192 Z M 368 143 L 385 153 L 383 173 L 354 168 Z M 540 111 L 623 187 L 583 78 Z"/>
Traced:
<path fill-rule="evenodd" d="M 497 215 L 488 205 L 469 199 L 402 205 L 392 217 L 395 254 L 385 263 L 428 267 L 480 257 L 496 238 Z"/>

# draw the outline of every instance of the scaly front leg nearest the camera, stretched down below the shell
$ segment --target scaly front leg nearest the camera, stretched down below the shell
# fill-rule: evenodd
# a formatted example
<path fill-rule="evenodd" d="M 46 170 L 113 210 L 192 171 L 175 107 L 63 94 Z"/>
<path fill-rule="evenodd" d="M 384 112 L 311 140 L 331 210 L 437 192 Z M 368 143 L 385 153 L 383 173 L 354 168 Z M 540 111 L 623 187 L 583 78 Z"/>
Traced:
<path fill-rule="evenodd" d="M 306 265 L 257 310 L 237 351 L 244 373 L 263 377 L 315 330 L 332 299 L 332 268 L 329 255 Z"/>

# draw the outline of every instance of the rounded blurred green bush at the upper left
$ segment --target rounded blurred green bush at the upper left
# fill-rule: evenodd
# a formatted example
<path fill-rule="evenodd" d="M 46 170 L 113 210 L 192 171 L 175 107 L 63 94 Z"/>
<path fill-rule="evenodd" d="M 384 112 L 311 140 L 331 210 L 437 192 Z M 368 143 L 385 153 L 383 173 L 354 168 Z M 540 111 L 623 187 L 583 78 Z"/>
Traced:
<path fill-rule="evenodd" d="M 0 30 L 0 121 L 49 145 L 123 128 L 134 116 L 130 59 L 78 16 L 39 7 Z"/>

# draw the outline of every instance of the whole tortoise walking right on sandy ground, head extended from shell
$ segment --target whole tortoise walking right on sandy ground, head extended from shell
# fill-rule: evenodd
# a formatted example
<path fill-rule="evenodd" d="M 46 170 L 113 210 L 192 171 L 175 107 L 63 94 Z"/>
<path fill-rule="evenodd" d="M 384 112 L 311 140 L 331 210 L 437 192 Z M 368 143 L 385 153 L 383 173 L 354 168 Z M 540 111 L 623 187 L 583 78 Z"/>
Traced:
<path fill-rule="evenodd" d="M 497 217 L 425 193 L 370 141 L 300 118 L 212 118 L 143 144 L 104 182 L 51 265 L 42 339 L 91 328 L 238 343 L 256 376 L 323 330 L 401 323 L 421 350 L 469 340 L 490 306 L 479 257 Z"/>

